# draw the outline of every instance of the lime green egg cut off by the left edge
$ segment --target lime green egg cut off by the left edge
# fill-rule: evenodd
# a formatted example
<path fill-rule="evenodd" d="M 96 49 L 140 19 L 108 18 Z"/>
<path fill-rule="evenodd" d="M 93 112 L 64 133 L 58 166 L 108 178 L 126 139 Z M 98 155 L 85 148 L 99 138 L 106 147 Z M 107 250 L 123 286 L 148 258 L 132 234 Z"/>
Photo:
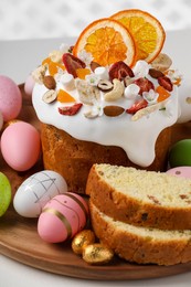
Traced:
<path fill-rule="evenodd" d="M 0 216 L 2 216 L 11 202 L 11 184 L 8 178 L 0 172 Z"/>

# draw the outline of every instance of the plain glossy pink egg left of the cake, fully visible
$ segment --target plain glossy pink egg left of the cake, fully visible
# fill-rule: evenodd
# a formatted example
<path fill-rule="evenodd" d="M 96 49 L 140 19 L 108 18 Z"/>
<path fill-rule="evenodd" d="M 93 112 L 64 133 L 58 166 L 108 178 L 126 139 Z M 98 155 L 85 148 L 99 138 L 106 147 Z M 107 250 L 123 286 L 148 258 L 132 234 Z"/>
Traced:
<path fill-rule="evenodd" d="M 1 136 L 1 152 L 6 162 L 14 170 L 25 171 L 40 158 L 39 131 L 30 124 L 17 121 L 8 126 Z"/>

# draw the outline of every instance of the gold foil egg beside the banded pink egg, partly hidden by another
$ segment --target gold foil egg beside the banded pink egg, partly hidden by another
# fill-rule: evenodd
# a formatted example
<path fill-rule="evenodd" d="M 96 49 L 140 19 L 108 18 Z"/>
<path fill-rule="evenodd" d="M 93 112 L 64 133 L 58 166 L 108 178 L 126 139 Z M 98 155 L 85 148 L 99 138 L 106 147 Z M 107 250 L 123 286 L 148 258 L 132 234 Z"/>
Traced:
<path fill-rule="evenodd" d="M 94 232 L 84 230 L 75 235 L 72 241 L 72 249 L 75 254 L 82 254 L 83 249 L 95 242 Z"/>

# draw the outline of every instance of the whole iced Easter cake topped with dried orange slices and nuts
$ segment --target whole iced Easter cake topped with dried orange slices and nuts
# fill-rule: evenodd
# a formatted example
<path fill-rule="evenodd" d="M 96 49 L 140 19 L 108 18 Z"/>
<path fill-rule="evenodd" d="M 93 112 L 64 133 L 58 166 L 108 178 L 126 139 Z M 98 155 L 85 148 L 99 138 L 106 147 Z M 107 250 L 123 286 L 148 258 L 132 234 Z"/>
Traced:
<path fill-rule="evenodd" d="M 131 17 L 150 33 L 131 31 Z M 165 39 L 152 15 L 126 10 L 91 23 L 33 72 L 44 168 L 70 191 L 85 192 L 94 163 L 166 169 L 181 76 L 161 53 Z"/>

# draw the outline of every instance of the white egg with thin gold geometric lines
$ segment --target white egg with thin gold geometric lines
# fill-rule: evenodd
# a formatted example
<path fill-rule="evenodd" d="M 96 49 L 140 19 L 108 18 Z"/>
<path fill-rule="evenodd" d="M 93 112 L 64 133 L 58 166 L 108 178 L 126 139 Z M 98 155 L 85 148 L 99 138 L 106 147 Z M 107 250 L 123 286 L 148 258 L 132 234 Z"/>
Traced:
<path fill-rule="evenodd" d="M 43 170 L 23 181 L 15 192 L 13 206 L 24 217 L 39 217 L 44 205 L 64 192 L 67 192 L 65 179 L 55 171 Z"/>

